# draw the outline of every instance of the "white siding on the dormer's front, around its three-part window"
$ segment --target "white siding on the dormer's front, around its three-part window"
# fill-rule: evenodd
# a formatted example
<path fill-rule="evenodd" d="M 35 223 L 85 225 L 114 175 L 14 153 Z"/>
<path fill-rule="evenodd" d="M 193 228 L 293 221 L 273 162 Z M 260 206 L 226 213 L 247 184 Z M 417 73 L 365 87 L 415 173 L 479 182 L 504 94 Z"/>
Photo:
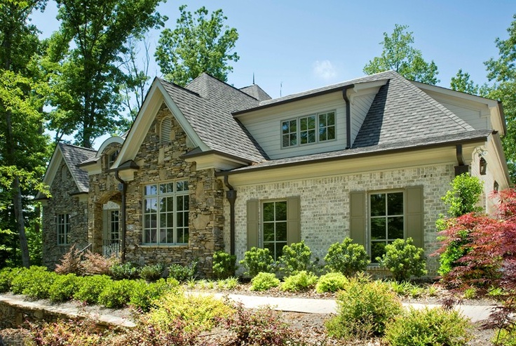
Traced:
<path fill-rule="evenodd" d="M 336 123 L 335 140 L 297 145 L 297 147 L 281 147 L 282 121 L 333 110 L 335 111 Z M 247 131 L 251 133 L 252 137 L 257 140 L 271 159 L 297 157 L 346 148 L 346 103 L 341 92 L 266 108 L 240 115 L 238 119 L 242 121 Z"/>

